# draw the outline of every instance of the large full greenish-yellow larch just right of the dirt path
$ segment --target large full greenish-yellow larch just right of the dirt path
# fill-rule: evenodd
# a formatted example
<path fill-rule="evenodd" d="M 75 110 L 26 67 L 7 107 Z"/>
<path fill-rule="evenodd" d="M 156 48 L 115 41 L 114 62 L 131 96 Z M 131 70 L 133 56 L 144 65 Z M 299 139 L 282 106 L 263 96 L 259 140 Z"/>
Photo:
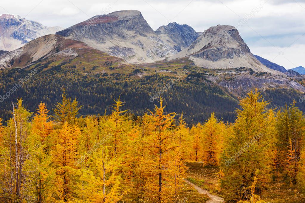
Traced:
<path fill-rule="evenodd" d="M 254 177 L 256 194 L 271 181 L 273 160 L 267 153 L 274 132 L 270 131 L 267 105 L 257 91 L 240 100 L 241 109 L 236 110 L 237 118 L 221 156 L 221 188 L 227 201 L 249 200 Z"/>

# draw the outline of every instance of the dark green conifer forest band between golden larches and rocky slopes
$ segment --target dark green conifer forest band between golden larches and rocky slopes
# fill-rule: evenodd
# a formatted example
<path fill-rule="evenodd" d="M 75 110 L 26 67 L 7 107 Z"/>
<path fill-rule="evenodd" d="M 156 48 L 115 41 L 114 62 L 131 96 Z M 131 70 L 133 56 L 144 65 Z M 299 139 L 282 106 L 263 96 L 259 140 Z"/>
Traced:
<path fill-rule="evenodd" d="M 85 72 L 78 68 L 37 66 L 37 73 L 33 75 L 22 88 L 10 94 L 9 99 L 0 103 L 0 116 L 5 120 L 10 117 L 11 101 L 18 97 L 27 101 L 24 105 L 31 112 L 38 108 L 39 101 L 46 103 L 50 110 L 60 102 L 59 95 L 66 88 L 67 93 L 77 98 L 83 106 L 82 115 L 100 114 L 106 109 L 111 112 L 113 98 L 120 96 L 126 102 L 126 109 L 135 115 L 143 115 L 145 109 L 154 108 L 157 100 L 150 102 L 151 96 L 159 92 L 170 77 L 159 74 L 136 78 L 124 74 Z M 48 69 L 46 69 L 48 68 Z M 1 71 L 0 96 L 6 94 L 14 85 L 26 77 L 31 70 L 10 69 Z M 124 71 L 122 71 L 124 72 Z M 268 100 L 277 107 L 283 106 L 293 99 L 299 100 L 300 93 L 293 89 L 274 89 L 264 93 Z M 284 94 L 284 95 L 283 95 Z M 167 103 L 167 112 L 184 112 L 188 124 L 203 122 L 215 112 L 216 117 L 223 121 L 234 122 L 235 108 L 238 108 L 238 98 L 230 95 L 217 84 L 208 81 L 203 74 L 189 73 L 186 79 L 181 79 L 161 94 Z M 0 99 L 1 101 L 1 99 Z M 305 110 L 305 103 L 296 105 Z M 53 111 L 50 112 L 53 115 Z"/>

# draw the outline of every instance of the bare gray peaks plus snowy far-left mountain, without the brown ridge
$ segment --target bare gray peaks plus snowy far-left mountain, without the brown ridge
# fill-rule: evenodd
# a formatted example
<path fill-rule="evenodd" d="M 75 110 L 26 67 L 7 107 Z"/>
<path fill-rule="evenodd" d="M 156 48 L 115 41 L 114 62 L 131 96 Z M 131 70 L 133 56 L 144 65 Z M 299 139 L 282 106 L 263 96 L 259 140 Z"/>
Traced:
<path fill-rule="evenodd" d="M 141 12 L 136 10 L 94 16 L 67 29 L 46 27 L 17 15 L 3 14 L 0 16 L 0 50 L 13 51 L 31 40 L 56 31 L 58 35 L 84 42 L 131 64 L 188 58 L 203 68 L 247 67 L 256 72 L 287 72 L 283 66 L 253 55 L 233 26 L 218 25 L 199 33 L 191 26 L 174 22 L 153 31 Z M 45 46 L 50 47 L 49 44 Z M 20 49 L 2 56 L 0 68 L 13 67 L 10 60 L 16 61 L 14 58 L 18 58 L 17 52 L 20 53 Z M 27 62 L 34 62 L 34 59 Z"/>

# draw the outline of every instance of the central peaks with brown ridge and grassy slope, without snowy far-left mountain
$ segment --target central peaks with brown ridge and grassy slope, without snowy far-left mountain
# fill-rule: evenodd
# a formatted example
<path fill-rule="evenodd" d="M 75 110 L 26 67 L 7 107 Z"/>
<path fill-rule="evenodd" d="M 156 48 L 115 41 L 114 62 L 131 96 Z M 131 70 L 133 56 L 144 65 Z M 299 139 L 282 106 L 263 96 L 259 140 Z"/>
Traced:
<path fill-rule="evenodd" d="M 141 71 L 147 68 L 170 75 L 186 67 L 199 68 L 196 72 L 215 69 L 221 71 L 209 79 L 237 95 L 253 87 L 305 92 L 289 79 L 298 76 L 296 72 L 284 74 L 284 67 L 258 59 L 233 26 L 217 25 L 200 34 L 188 25 L 169 23 L 153 31 L 141 12 L 125 10 L 95 16 L 3 53 L 0 69 L 65 65 L 139 77 L 152 74 Z M 227 80 L 228 76 L 234 79 Z"/>

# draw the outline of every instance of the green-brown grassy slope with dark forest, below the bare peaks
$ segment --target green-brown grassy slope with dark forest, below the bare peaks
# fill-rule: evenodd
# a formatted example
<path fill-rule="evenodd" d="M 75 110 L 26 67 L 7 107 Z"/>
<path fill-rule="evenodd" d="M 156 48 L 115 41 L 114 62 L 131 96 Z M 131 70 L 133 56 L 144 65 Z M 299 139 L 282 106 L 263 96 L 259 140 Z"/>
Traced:
<path fill-rule="evenodd" d="M 34 75 L 23 88 L 19 88 L 9 99 L 0 103 L 0 117 L 10 116 L 11 103 L 22 97 L 30 111 L 34 111 L 42 101 L 50 110 L 60 101 L 63 87 L 69 96 L 77 98 L 83 105 L 80 113 L 103 114 L 113 99 L 121 96 L 126 102 L 126 109 L 136 115 L 142 115 L 146 109 L 152 109 L 157 102 L 150 102 L 171 79 L 187 71 L 186 75 L 165 91 L 164 97 L 168 112 L 184 112 L 188 124 L 204 122 L 215 112 L 223 121 L 235 120 L 235 108 L 238 97 L 228 89 L 209 80 L 209 75 L 218 75 L 221 70 L 197 68 L 192 62 L 179 59 L 171 62 L 154 64 L 128 65 L 122 60 L 105 53 L 82 49 L 74 59 L 38 61 L 34 65 L 18 70 L 0 71 L 1 95 L 11 89 L 19 79 L 23 79 L 31 69 L 37 68 Z M 170 72 L 158 72 L 169 70 Z M 232 71 L 232 70 L 231 70 Z M 284 106 L 298 100 L 300 93 L 291 89 L 265 90 L 263 95 L 273 106 Z M 305 110 L 305 102 L 297 103 Z"/>

